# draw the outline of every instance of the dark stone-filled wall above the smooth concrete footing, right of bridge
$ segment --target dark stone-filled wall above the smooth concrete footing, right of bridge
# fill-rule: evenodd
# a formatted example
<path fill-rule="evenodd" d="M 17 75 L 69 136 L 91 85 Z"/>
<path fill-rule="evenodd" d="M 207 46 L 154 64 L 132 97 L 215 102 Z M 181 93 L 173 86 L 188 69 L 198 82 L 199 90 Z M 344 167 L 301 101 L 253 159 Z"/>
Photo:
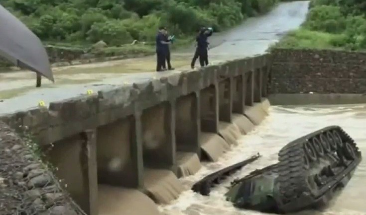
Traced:
<path fill-rule="evenodd" d="M 272 51 L 270 93 L 365 93 L 366 53 Z"/>

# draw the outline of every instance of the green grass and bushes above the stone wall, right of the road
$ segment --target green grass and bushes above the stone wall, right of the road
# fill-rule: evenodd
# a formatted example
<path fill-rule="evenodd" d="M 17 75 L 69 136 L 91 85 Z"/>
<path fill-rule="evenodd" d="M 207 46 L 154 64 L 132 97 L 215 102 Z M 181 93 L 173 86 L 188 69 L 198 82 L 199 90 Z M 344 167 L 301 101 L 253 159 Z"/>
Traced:
<path fill-rule="evenodd" d="M 302 27 L 275 46 L 282 48 L 366 49 L 365 0 L 311 0 Z"/>

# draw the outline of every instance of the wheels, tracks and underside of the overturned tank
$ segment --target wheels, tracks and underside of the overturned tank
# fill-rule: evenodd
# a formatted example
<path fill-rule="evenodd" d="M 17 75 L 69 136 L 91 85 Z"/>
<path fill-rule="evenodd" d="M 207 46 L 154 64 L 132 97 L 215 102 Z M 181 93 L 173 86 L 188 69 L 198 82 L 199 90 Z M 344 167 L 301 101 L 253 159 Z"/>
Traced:
<path fill-rule="evenodd" d="M 326 204 L 350 180 L 361 162 L 355 141 L 339 126 L 329 126 L 286 144 L 278 153 L 280 213 Z M 315 173 L 314 173 L 315 172 Z"/>

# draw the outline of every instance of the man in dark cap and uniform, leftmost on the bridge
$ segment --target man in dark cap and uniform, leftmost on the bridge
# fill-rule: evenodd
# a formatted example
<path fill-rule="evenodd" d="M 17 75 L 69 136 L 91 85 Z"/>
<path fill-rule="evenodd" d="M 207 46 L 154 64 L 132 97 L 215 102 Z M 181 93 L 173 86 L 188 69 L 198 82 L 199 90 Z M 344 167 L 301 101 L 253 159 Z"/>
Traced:
<path fill-rule="evenodd" d="M 165 27 L 159 27 L 159 32 L 156 35 L 156 72 L 165 71 L 163 66 L 166 59 L 166 47 L 165 45 L 170 42 L 165 41 Z"/>

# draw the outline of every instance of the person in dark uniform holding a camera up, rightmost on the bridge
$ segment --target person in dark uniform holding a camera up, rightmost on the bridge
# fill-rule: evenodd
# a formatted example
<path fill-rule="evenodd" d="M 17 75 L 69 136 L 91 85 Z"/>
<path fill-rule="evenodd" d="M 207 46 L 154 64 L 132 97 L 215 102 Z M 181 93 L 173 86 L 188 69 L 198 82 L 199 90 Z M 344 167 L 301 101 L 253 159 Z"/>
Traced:
<path fill-rule="evenodd" d="M 201 67 L 207 66 L 208 62 L 208 45 L 207 38 L 212 35 L 213 30 L 210 28 L 200 28 L 198 36 L 196 37 L 197 48 L 191 62 L 191 68 L 194 69 L 197 58 L 200 58 Z"/>

